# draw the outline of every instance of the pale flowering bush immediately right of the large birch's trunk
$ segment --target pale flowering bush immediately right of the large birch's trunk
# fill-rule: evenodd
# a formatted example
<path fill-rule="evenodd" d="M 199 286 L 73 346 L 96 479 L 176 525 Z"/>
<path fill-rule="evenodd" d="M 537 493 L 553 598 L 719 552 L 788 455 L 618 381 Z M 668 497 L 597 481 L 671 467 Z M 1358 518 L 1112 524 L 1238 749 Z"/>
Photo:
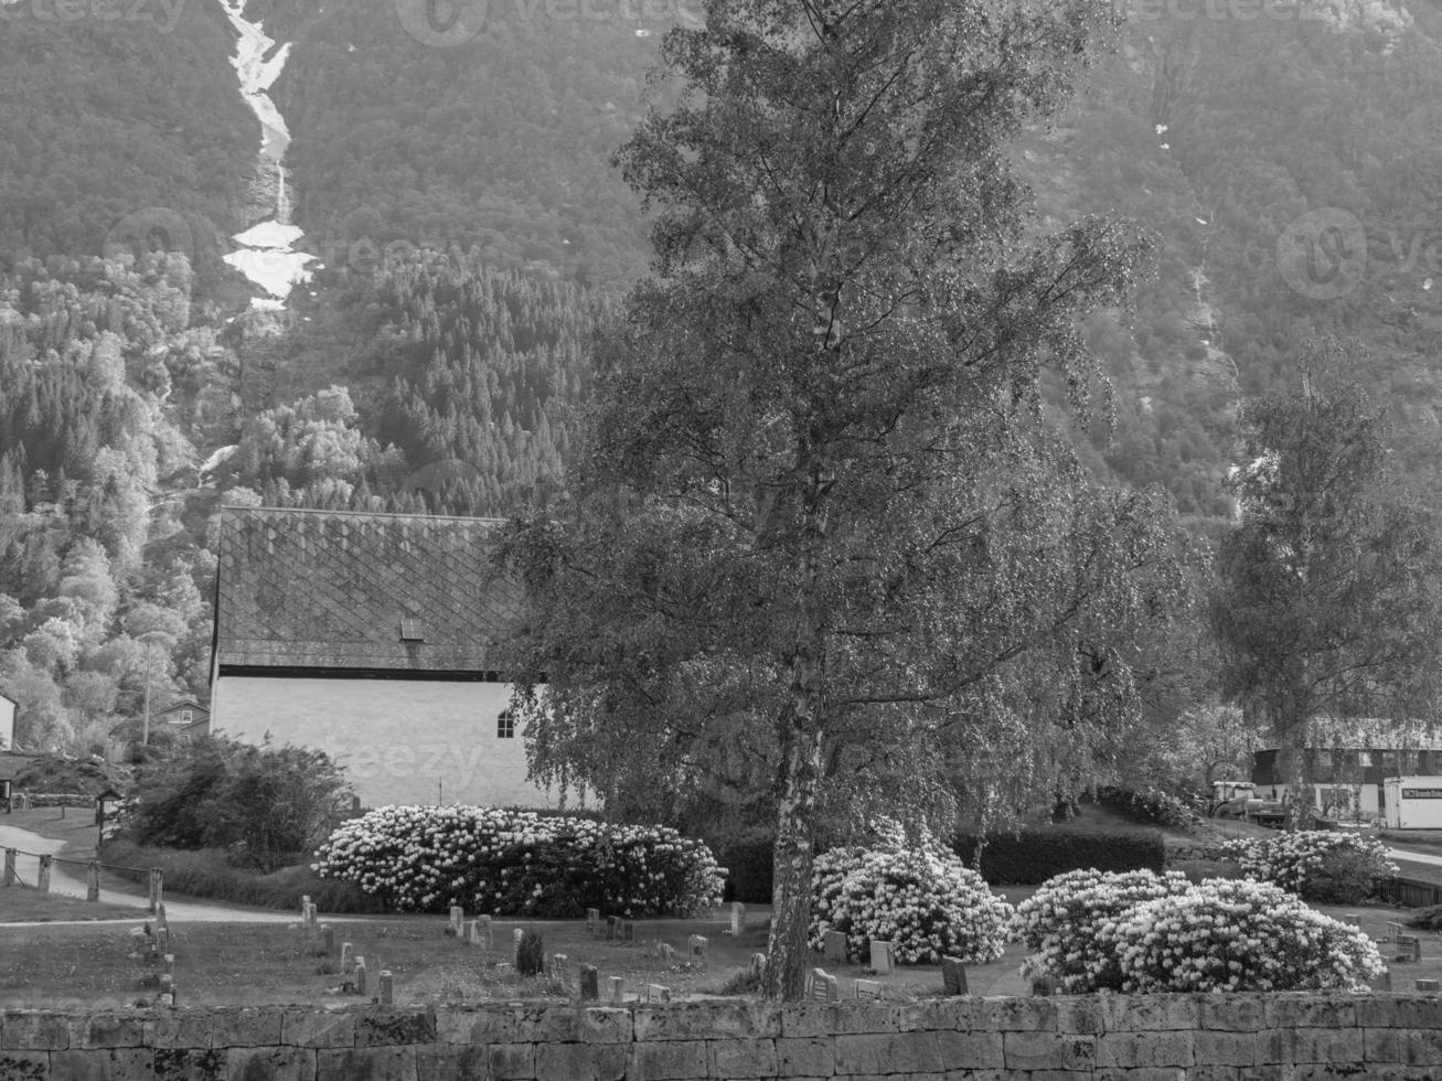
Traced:
<path fill-rule="evenodd" d="M 1001 957 L 1011 905 L 962 860 L 934 846 L 920 850 L 831 849 L 812 878 L 810 944 L 826 931 L 846 935 L 846 954 L 868 956 L 872 938 L 897 944 L 898 964 Z"/>

